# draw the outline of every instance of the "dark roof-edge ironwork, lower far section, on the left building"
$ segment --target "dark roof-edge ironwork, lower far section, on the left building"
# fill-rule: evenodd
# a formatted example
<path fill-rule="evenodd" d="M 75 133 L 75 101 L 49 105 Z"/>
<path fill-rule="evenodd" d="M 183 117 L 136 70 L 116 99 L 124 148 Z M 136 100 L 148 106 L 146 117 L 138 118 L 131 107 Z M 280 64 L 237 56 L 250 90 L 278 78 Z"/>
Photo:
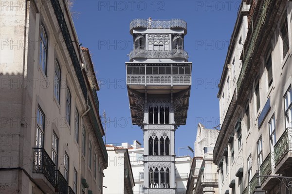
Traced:
<path fill-rule="evenodd" d="M 95 135 L 97 137 L 97 140 L 99 142 L 99 145 L 101 146 L 101 151 L 104 155 L 104 159 L 106 162 L 108 162 L 108 152 L 107 152 L 107 148 L 104 144 L 104 141 L 102 139 L 102 135 L 100 133 L 100 129 L 99 129 L 99 126 L 98 126 L 98 123 L 97 123 L 97 119 L 95 117 L 95 114 L 94 114 L 94 111 L 93 111 L 93 107 L 92 107 L 92 104 L 91 102 L 89 101 L 89 106 L 91 107 L 90 111 L 89 111 L 89 115 L 90 115 L 90 118 L 91 118 L 91 122 L 93 123 L 93 128 L 94 128 L 94 132 L 95 132 Z"/>

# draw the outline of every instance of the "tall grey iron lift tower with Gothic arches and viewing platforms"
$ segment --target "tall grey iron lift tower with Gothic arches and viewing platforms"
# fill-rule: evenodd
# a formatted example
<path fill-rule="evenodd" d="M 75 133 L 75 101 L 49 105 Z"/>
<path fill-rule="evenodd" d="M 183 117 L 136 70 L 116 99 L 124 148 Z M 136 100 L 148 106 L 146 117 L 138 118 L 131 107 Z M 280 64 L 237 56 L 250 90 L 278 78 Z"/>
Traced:
<path fill-rule="evenodd" d="M 144 131 L 144 193 L 175 193 L 175 130 L 185 125 L 192 63 L 181 19 L 134 19 L 126 62 L 132 123 Z"/>

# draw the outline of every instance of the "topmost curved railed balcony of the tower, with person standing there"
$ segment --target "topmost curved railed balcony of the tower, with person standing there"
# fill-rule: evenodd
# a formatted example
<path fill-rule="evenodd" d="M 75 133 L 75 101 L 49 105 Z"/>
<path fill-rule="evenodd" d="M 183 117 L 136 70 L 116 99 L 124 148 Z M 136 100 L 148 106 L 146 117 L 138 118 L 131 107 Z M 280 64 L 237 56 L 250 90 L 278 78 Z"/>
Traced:
<path fill-rule="evenodd" d="M 133 34 L 133 29 L 183 29 L 184 34 L 186 34 L 187 24 L 182 19 L 152 20 L 149 22 L 147 19 L 137 18 L 130 23 L 131 34 Z"/>

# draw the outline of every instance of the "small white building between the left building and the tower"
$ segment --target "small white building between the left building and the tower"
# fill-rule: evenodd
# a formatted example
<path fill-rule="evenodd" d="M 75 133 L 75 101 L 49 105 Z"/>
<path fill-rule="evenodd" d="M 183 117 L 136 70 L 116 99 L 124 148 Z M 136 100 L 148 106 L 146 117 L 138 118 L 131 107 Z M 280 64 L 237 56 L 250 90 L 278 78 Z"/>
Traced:
<path fill-rule="evenodd" d="M 107 145 L 109 166 L 104 171 L 104 194 L 133 194 L 135 186 L 128 148 Z"/>

